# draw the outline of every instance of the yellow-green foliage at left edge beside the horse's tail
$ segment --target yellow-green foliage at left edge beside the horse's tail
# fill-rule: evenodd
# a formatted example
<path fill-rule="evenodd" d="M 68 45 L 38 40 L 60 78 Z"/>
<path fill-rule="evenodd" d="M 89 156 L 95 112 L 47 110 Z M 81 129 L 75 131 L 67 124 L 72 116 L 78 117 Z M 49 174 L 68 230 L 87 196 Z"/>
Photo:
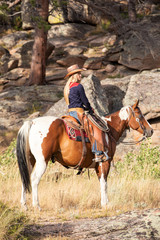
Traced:
<path fill-rule="evenodd" d="M 14 139 L 7 150 L 0 155 L 0 165 L 6 165 L 15 161 L 16 139 Z"/>

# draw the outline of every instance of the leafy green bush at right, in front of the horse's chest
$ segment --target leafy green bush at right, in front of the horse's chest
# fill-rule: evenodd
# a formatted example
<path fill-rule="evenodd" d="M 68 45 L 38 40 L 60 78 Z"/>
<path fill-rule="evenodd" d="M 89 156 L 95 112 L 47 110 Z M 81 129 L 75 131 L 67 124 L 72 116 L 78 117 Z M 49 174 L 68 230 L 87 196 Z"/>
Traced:
<path fill-rule="evenodd" d="M 142 143 L 138 154 L 128 153 L 116 168 L 120 175 L 128 172 L 133 178 L 160 178 L 160 147 L 151 147 L 149 141 Z"/>

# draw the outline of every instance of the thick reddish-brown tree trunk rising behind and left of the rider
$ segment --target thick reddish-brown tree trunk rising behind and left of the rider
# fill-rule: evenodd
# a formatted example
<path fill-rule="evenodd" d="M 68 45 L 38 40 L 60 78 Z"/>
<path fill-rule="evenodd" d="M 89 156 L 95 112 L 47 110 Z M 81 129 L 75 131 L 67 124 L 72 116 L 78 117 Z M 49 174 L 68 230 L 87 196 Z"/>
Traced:
<path fill-rule="evenodd" d="M 43 85 L 46 71 L 47 20 L 49 0 L 36 2 L 39 20 L 36 22 L 31 73 L 27 85 Z"/>

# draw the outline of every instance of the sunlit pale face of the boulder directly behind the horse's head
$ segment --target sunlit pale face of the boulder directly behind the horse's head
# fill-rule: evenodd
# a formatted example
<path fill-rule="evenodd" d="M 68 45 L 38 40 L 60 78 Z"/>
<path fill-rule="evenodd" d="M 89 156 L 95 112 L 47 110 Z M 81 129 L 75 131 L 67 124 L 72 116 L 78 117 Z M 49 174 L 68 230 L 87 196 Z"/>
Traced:
<path fill-rule="evenodd" d="M 124 105 L 140 100 L 140 108 L 147 119 L 160 117 L 160 69 L 143 71 L 131 76 L 123 99 Z"/>

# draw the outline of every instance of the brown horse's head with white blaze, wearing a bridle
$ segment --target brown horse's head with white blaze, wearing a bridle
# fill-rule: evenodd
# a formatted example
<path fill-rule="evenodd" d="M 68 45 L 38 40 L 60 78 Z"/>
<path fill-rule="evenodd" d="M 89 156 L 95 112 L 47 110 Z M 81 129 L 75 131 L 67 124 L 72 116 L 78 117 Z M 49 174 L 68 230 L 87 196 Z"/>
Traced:
<path fill-rule="evenodd" d="M 139 100 L 131 107 L 131 114 L 128 119 L 128 125 L 132 129 L 142 133 L 145 137 L 151 137 L 153 129 L 149 122 L 144 118 L 140 108 L 138 107 Z"/>

